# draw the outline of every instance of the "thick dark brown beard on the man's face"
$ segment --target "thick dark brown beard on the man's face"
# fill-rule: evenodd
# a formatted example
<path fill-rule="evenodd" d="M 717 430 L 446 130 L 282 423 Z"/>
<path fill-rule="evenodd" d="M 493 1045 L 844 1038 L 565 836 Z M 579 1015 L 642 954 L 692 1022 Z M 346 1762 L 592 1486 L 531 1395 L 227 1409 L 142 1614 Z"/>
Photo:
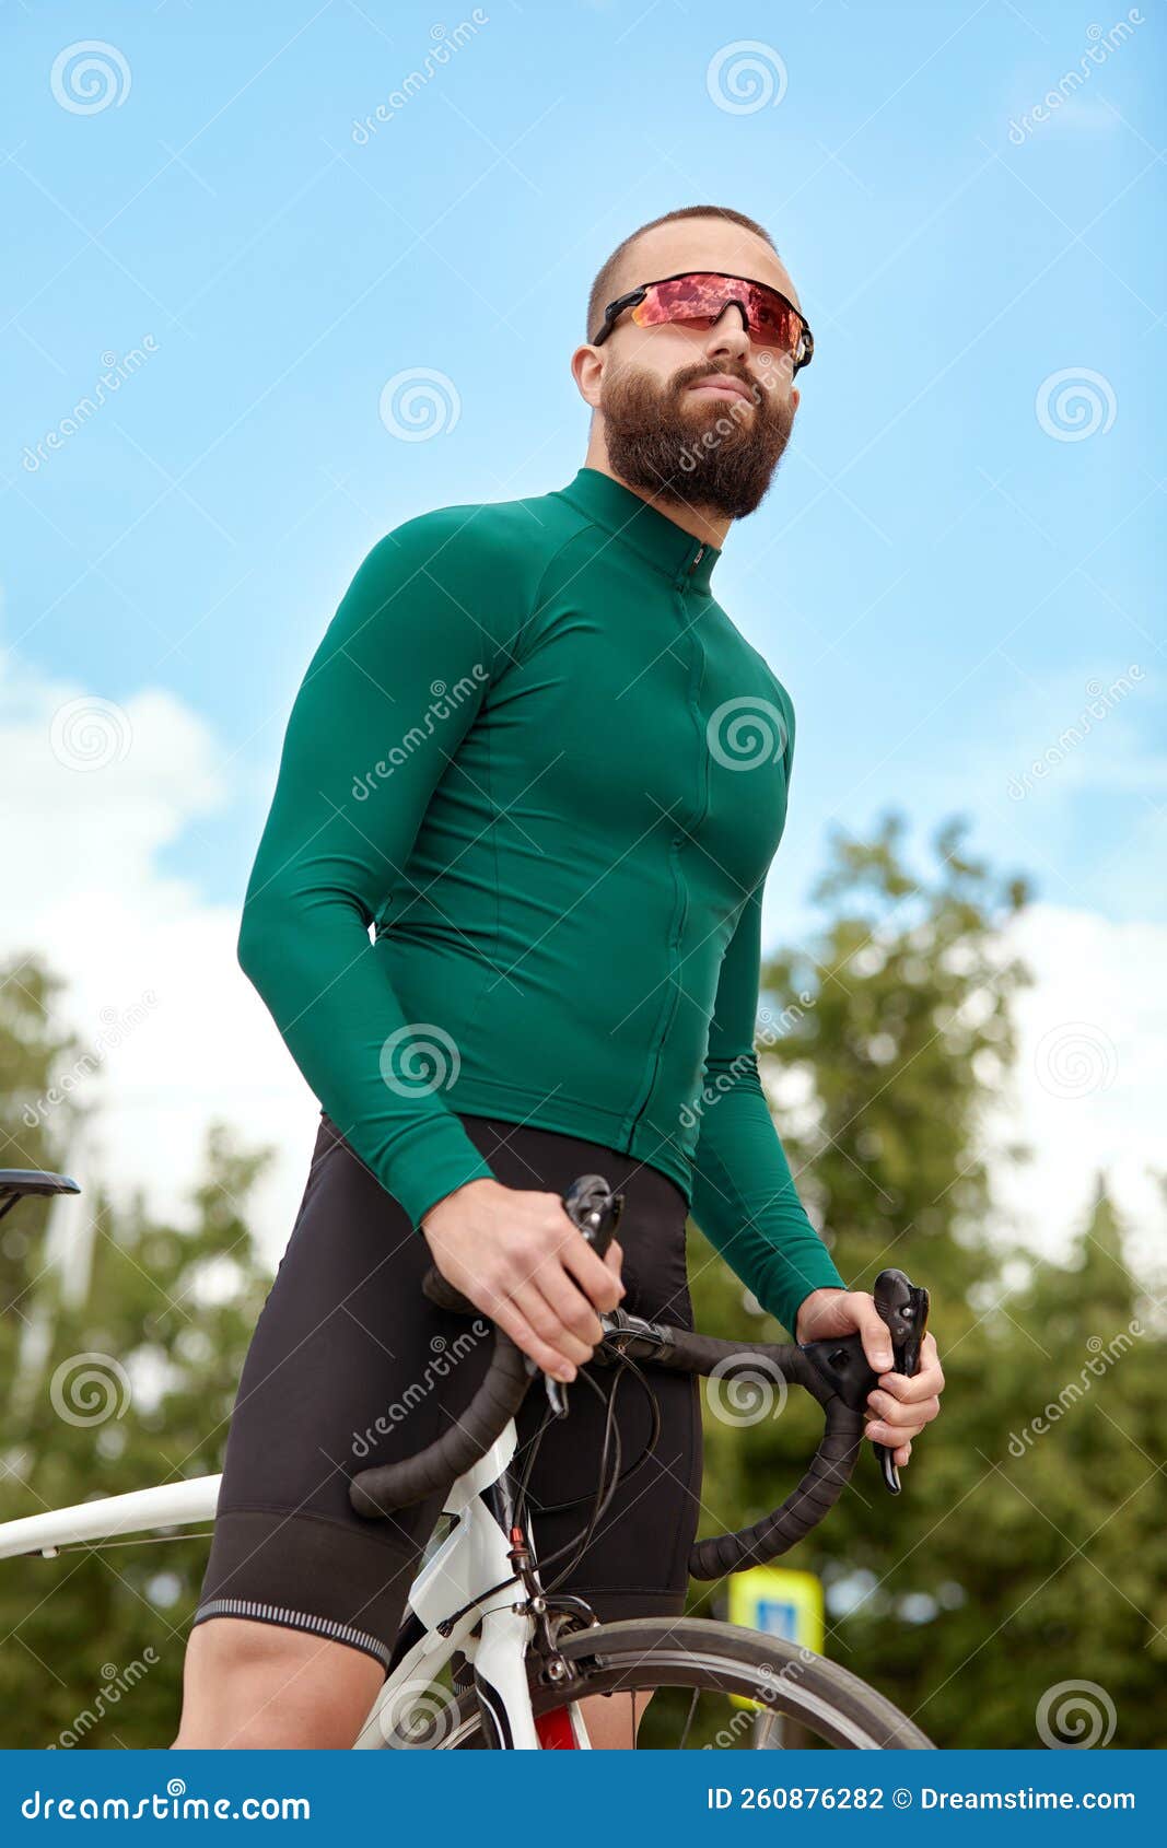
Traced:
<path fill-rule="evenodd" d="M 723 373 L 751 394 L 690 394 L 697 379 Z M 742 519 L 760 505 L 790 442 L 793 405 L 747 371 L 731 366 L 686 366 L 660 384 L 634 366 L 612 371 L 599 408 L 608 462 L 629 488 L 710 508 Z"/>

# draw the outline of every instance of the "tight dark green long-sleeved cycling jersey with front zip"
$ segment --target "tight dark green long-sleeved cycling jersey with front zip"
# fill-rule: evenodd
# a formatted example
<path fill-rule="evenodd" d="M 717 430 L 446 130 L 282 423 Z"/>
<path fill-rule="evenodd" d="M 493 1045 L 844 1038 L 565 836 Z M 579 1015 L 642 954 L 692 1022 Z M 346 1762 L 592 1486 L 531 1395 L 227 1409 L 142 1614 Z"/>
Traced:
<path fill-rule="evenodd" d="M 461 1114 L 562 1131 L 669 1175 L 793 1327 L 840 1284 L 755 1057 L 793 711 L 716 560 L 590 468 L 381 540 L 296 697 L 239 955 L 414 1225 L 490 1173 Z"/>

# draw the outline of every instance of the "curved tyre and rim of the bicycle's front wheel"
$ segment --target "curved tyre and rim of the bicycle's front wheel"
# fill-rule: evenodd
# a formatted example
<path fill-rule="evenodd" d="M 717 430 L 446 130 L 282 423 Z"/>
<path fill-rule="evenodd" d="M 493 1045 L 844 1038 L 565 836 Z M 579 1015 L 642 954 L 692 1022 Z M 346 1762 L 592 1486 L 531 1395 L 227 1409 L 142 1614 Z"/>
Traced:
<path fill-rule="evenodd" d="M 560 1648 L 579 1680 L 570 1687 L 547 1687 L 533 1678 L 536 1719 L 588 1695 L 695 1687 L 742 1695 L 845 1750 L 936 1750 L 919 1726 L 849 1669 L 740 1624 L 636 1617 L 577 1630 Z M 401 1745 L 409 1750 L 485 1750 L 473 1693 L 451 1700 L 429 1737 Z"/>

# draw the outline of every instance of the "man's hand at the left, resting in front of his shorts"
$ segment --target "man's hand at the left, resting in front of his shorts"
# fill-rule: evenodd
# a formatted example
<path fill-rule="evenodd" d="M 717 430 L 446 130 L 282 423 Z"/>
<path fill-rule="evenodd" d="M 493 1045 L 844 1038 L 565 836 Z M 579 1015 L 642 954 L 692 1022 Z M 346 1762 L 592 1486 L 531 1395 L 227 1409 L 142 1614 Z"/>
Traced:
<path fill-rule="evenodd" d="M 599 1258 L 559 1194 L 466 1181 L 422 1223 L 448 1283 L 498 1321 L 544 1373 L 573 1380 L 603 1336 L 597 1310 L 623 1295 L 623 1251 Z"/>

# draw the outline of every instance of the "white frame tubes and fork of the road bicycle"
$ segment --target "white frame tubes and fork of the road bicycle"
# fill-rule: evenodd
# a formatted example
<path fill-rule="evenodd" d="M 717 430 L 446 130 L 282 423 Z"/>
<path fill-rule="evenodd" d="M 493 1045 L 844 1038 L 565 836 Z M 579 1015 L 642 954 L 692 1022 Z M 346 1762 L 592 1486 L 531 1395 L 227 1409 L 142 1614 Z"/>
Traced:
<path fill-rule="evenodd" d="M 540 1750 L 527 1691 L 527 1647 L 534 1621 L 516 1608 L 522 1587 L 509 1584 L 485 1610 L 473 1602 L 492 1586 L 514 1578 L 509 1536 L 490 1514 L 483 1491 L 509 1469 L 516 1443 L 510 1423 L 486 1456 L 459 1477 L 449 1491 L 446 1512 L 455 1515 L 455 1526 L 422 1567 L 409 1593 L 409 1606 L 424 1634 L 377 1695 L 361 1728 L 359 1748 L 409 1750 L 418 1741 L 420 1724 L 425 1724 L 422 1743 L 440 1745 L 455 1724 L 457 1698 L 438 1685 L 438 1674 L 455 1650 L 461 1650 L 475 1671 L 479 1700 L 503 1746 Z M 220 1482 L 222 1477 L 196 1477 L 190 1482 L 166 1482 L 154 1489 L 0 1523 L 0 1560 L 35 1552 L 55 1558 L 63 1547 L 83 1547 L 120 1534 L 198 1526 L 215 1519 Z M 438 1624 L 464 1606 L 472 1608 L 444 1635 Z M 473 1635 L 479 1626 L 479 1635 Z M 588 1748 L 579 1706 L 571 1706 L 570 1717 L 575 1745 Z"/>

